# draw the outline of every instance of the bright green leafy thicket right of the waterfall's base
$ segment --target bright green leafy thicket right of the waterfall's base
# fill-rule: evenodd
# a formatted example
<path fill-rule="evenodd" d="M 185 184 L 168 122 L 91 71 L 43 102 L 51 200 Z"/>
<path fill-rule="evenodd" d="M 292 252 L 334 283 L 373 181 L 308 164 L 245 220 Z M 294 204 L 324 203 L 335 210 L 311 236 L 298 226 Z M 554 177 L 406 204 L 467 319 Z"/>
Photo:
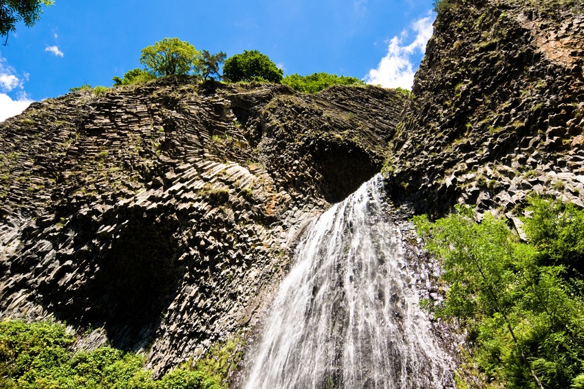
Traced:
<path fill-rule="evenodd" d="M 414 218 L 448 287 L 432 309 L 468 331 L 485 387 L 584 388 L 584 212 L 533 198 L 526 214 L 528 243 L 488 213 L 476 223 L 469 208 Z"/>

